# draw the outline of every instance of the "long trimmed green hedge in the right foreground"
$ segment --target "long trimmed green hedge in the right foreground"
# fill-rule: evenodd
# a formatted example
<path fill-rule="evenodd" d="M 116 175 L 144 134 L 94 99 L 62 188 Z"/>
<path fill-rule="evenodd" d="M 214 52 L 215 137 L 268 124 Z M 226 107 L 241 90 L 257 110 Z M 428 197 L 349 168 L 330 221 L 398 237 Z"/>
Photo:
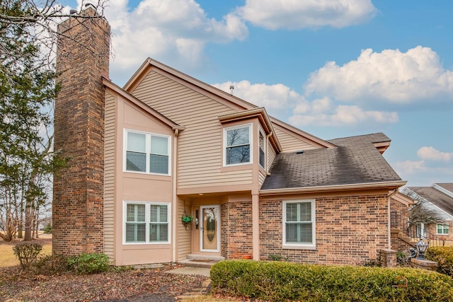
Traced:
<path fill-rule="evenodd" d="M 406 267 L 226 260 L 210 277 L 216 293 L 266 301 L 453 301 L 451 277 Z"/>

